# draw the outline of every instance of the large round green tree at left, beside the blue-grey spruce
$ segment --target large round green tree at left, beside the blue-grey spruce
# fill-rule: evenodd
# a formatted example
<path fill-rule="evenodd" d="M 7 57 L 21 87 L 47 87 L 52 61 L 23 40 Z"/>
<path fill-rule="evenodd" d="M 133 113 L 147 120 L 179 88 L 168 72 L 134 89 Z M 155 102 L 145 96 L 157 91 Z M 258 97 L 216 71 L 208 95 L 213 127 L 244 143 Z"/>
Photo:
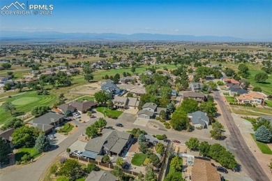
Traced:
<path fill-rule="evenodd" d="M 33 147 L 40 131 L 34 127 L 22 126 L 13 132 L 13 144 L 18 147 Z"/>

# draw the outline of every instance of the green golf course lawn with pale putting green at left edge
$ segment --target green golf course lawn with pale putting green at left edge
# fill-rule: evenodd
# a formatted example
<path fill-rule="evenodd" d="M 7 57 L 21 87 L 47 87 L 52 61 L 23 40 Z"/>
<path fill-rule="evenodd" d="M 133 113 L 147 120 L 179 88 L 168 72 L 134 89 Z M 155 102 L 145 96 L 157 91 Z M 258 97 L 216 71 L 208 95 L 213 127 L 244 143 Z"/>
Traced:
<path fill-rule="evenodd" d="M 20 94 L 18 96 L 11 96 L 10 98 L 0 99 L 1 102 L 9 101 L 14 104 L 16 108 L 16 112 L 14 115 L 10 115 L 9 112 L 3 110 L 3 106 L 0 106 L 0 124 L 6 122 L 11 117 L 16 117 L 18 115 L 23 115 L 24 113 L 28 113 L 35 106 L 47 105 L 52 106 L 52 104 L 56 101 L 56 95 L 40 95 L 38 96 L 35 91 L 25 92 L 24 94 Z"/>

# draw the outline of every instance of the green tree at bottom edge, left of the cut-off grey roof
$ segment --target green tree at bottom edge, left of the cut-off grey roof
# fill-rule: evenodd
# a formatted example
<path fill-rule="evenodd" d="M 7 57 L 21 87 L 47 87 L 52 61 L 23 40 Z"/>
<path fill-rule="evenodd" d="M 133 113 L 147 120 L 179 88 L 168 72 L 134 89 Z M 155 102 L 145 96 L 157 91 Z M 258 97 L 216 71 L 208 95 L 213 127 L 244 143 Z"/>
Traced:
<path fill-rule="evenodd" d="M 75 159 L 67 159 L 59 169 L 58 175 L 66 176 L 70 180 L 77 180 L 84 176 L 82 166 Z"/>

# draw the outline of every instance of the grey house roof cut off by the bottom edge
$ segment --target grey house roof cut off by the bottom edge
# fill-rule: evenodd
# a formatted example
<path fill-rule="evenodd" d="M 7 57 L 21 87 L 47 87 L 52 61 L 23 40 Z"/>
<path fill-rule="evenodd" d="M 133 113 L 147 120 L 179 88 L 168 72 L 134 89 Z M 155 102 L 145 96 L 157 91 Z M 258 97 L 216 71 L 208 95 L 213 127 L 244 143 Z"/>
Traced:
<path fill-rule="evenodd" d="M 85 181 L 116 181 L 118 180 L 109 171 L 91 171 Z"/>

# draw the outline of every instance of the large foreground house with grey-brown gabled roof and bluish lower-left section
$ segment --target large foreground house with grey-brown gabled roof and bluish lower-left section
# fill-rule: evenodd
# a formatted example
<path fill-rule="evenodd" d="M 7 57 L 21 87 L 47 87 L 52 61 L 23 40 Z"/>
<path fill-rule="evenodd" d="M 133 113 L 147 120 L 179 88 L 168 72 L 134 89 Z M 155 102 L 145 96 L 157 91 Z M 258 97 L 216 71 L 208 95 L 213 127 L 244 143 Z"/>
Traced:
<path fill-rule="evenodd" d="M 98 154 L 121 155 L 123 150 L 133 142 L 131 134 L 127 132 L 103 129 L 102 133 L 103 136 L 88 141 L 83 155 L 90 155 L 91 159 L 96 159 Z"/>

